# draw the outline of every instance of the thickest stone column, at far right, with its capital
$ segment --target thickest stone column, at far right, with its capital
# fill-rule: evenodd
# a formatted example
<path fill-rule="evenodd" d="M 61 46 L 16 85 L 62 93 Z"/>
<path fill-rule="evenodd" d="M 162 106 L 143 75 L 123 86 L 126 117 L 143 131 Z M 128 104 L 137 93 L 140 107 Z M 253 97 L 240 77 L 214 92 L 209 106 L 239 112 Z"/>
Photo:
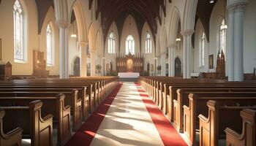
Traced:
<path fill-rule="evenodd" d="M 244 11 L 247 0 L 228 0 L 229 23 L 227 27 L 228 80 L 244 80 Z"/>

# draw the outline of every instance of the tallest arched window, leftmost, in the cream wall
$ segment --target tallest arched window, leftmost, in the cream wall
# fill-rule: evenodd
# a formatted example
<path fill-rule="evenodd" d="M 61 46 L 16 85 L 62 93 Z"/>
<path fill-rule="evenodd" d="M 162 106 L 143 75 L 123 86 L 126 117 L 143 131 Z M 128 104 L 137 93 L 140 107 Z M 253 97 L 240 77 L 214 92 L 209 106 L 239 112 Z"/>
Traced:
<path fill-rule="evenodd" d="M 14 18 L 14 58 L 15 61 L 25 61 L 24 50 L 24 28 L 23 28 L 23 9 L 20 1 L 15 0 L 13 6 Z"/>

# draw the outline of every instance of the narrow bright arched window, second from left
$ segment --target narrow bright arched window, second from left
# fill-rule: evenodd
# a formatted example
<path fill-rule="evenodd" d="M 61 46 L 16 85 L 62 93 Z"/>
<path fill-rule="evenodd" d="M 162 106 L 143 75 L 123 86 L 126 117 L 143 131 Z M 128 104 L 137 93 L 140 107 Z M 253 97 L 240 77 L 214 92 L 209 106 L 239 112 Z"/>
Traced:
<path fill-rule="evenodd" d="M 53 66 L 53 34 L 50 25 L 46 28 L 47 65 Z"/>

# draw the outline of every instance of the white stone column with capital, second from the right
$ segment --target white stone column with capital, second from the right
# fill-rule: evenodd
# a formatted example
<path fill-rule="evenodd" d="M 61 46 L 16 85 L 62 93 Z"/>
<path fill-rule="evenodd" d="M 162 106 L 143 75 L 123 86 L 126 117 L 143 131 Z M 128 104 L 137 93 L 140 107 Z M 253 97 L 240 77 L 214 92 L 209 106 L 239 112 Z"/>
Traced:
<path fill-rule="evenodd" d="M 191 78 L 191 51 L 192 51 L 192 34 L 194 33 L 194 30 L 186 30 L 182 31 L 183 35 L 183 78 L 189 79 Z"/>

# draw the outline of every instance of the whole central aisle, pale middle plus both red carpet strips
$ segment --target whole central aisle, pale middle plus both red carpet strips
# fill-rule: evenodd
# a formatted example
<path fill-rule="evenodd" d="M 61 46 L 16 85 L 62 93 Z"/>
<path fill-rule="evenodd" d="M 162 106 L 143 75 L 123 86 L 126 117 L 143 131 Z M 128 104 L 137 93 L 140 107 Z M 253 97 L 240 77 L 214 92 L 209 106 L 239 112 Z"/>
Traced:
<path fill-rule="evenodd" d="M 67 146 L 185 146 L 165 115 L 134 82 L 124 82 L 97 107 Z"/>

